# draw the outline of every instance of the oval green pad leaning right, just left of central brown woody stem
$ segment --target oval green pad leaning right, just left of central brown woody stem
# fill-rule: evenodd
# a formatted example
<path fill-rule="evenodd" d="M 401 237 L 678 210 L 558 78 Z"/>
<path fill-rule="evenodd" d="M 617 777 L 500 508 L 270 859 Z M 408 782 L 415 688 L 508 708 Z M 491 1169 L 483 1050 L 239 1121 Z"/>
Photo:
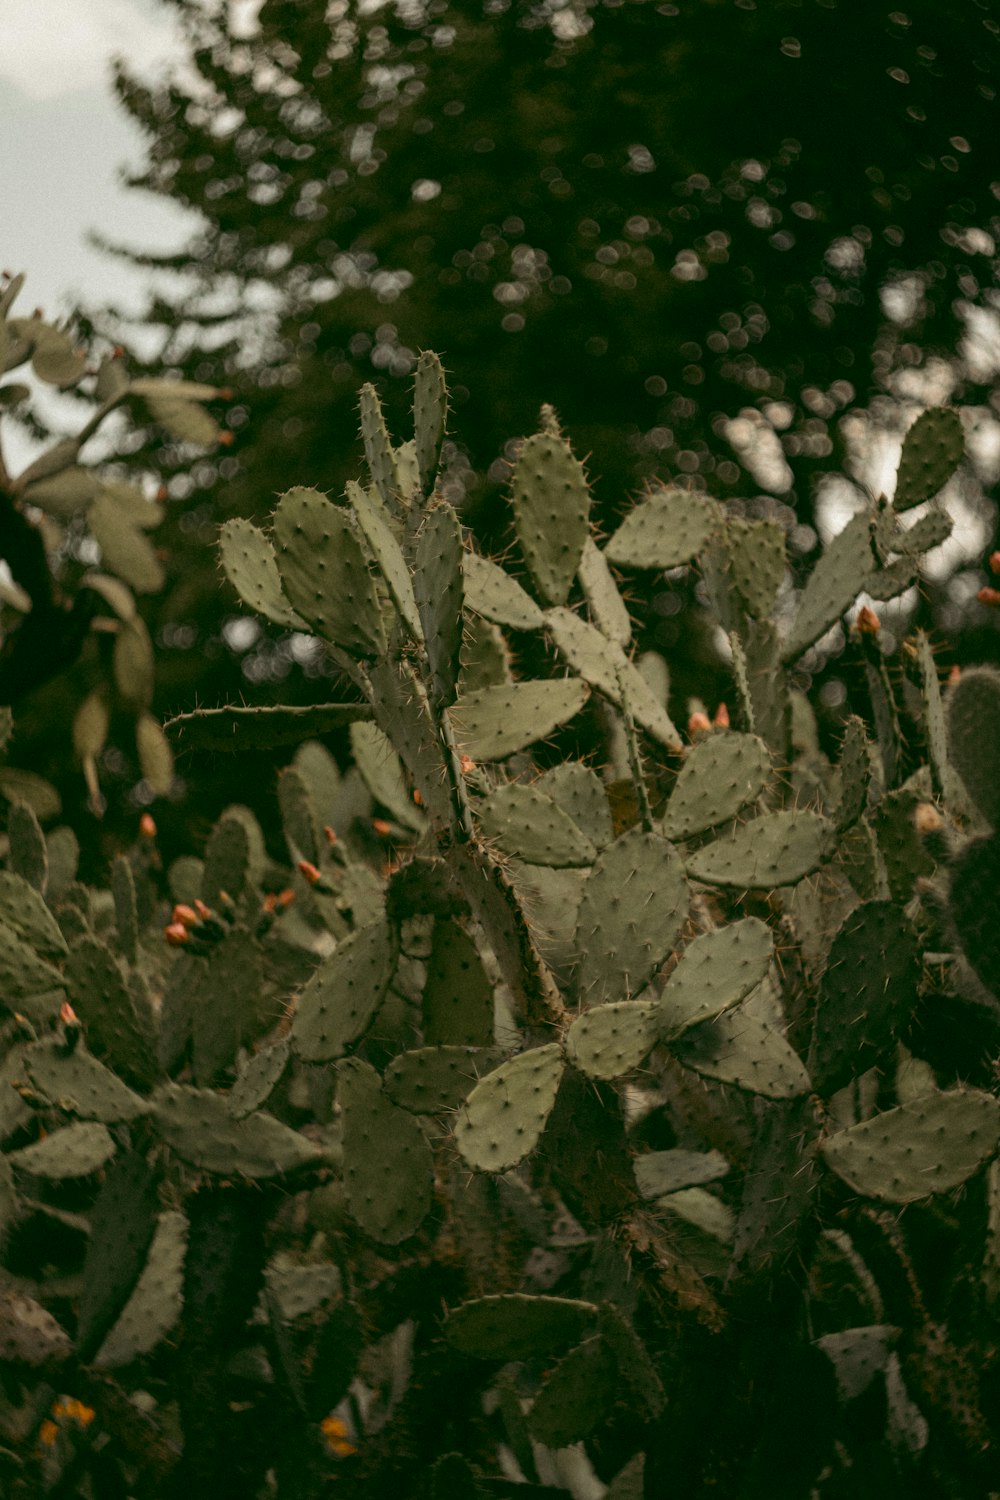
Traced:
<path fill-rule="evenodd" d="M 394 968 L 394 932 L 384 921 L 337 944 L 298 996 L 291 1032 L 298 1056 L 306 1062 L 342 1058 L 370 1026 Z"/>

